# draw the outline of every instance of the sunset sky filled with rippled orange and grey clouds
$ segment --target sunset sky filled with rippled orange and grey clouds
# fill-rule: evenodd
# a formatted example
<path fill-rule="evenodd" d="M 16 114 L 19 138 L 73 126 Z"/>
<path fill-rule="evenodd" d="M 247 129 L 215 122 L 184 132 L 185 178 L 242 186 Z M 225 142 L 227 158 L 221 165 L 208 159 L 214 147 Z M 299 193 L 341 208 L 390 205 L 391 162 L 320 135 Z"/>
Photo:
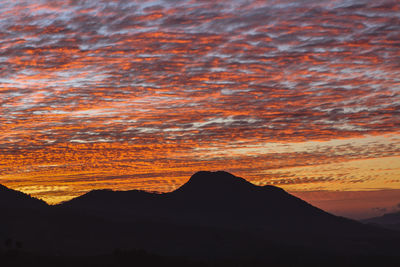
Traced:
<path fill-rule="evenodd" d="M 400 2 L 0 1 L 0 183 L 54 204 L 199 170 L 400 210 Z"/>

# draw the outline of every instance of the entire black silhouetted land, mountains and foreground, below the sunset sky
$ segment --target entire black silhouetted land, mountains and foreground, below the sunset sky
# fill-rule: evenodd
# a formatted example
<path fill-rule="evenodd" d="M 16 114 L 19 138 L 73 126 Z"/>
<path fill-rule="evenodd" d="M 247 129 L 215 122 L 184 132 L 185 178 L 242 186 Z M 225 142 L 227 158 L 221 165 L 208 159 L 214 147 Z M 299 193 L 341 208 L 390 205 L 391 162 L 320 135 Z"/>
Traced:
<path fill-rule="evenodd" d="M 0 266 L 399 266 L 400 232 L 283 189 L 199 172 L 171 193 L 95 190 L 57 206 L 0 188 Z"/>

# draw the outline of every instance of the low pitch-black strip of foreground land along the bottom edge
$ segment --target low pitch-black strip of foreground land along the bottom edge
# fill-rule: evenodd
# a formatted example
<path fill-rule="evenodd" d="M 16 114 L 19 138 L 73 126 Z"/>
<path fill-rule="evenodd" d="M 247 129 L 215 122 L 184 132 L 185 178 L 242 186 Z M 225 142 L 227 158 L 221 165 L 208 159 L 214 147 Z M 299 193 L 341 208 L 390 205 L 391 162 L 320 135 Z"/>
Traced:
<path fill-rule="evenodd" d="M 269 259 L 220 259 L 193 260 L 185 257 L 168 257 L 151 254 L 142 250 L 120 251 L 90 256 L 49 255 L 8 251 L 1 254 L 1 266 L 399 266 L 398 257 L 387 256 L 339 256 L 336 254 L 310 253 L 300 255 L 299 251 L 280 251 Z"/>

